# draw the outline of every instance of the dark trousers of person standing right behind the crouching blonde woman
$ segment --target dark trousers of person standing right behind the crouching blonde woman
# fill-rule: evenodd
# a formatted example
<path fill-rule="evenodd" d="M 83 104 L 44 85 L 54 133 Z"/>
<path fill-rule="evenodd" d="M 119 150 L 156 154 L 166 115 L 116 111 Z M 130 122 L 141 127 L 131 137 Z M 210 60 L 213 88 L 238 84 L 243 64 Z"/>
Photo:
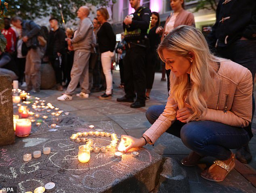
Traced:
<path fill-rule="evenodd" d="M 252 79 L 256 72 L 256 40 L 237 40 L 233 44 L 226 47 L 218 47 L 217 55 L 232 60 L 246 68 L 252 73 Z M 255 101 L 252 95 L 252 117 L 255 111 Z M 246 130 L 252 138 L 252 124 Z"/>

